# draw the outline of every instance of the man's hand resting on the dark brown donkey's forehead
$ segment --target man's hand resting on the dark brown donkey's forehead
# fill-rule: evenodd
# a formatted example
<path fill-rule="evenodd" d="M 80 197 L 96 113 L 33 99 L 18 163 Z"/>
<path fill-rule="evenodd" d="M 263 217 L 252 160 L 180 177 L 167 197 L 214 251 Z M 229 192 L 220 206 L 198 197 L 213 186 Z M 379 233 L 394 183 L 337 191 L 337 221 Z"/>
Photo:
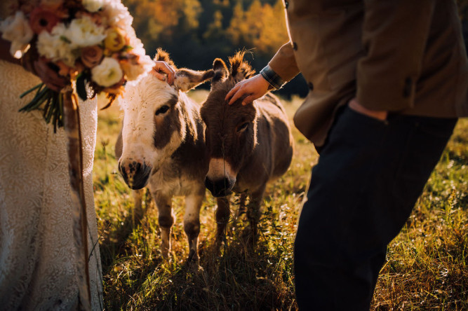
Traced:
<path fill-rule="evenodd" d="M 262 77 L 261 74 L 257 74 L 247 80 L 239 81 L 234 88 L 227 93 L 225 100 L 229 100 L 229 104 L 233 104 L 237 99 L 243 95 L 248 95 L 242 100 L 242 104 L 250 104 L 255 99 L 262 97 L 267 94 L 269 83 Z"/>

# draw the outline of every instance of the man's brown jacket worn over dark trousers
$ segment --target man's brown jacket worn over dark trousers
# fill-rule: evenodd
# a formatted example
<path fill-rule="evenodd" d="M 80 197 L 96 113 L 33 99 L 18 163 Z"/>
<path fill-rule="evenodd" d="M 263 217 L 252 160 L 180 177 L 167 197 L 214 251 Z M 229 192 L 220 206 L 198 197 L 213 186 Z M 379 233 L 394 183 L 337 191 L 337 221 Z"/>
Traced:
<path fill-rule="evenodd" d="M 283 0 L 284 1 L 284 0 Z M 321 146 L 338 106 L 468 116 L 468 62 L 454 0 L 287 0 L 290 42 L 269 66 L 310 92 L 295 125 Z"/>

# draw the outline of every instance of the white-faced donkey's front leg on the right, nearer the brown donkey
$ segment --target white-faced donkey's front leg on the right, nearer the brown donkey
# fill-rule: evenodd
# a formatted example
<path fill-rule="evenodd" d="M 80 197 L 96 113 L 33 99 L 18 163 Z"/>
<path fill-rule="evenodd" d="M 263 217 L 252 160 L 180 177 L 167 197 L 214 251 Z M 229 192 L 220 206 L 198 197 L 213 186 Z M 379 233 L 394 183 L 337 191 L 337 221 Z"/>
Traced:
<path fill-rule="evenodd" d="M 189 240 L 189 258 L 188 261 L 198 261 L 199 253 L 197 244 L 200 233 L 200 209 L 203 202 L 205 188 L 203 194 L 191 194 L 185 197 L 185 215 L 184 215 L 184 231 Z"/>

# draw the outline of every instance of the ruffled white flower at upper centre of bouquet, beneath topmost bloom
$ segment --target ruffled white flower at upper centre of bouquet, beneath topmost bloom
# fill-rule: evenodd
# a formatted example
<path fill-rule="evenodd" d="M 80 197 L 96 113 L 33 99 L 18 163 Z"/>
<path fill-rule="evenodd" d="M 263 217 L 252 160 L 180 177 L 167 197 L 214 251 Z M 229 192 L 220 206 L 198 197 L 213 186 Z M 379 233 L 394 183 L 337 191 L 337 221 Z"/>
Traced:
<path fill-rule="evenodd" d="M 83 48 L 101 43 L 106 34 L 104 27 L 96 25 L 88 16 L 83 16 L 72 20 L 65 36 L 73 48 Z"/>

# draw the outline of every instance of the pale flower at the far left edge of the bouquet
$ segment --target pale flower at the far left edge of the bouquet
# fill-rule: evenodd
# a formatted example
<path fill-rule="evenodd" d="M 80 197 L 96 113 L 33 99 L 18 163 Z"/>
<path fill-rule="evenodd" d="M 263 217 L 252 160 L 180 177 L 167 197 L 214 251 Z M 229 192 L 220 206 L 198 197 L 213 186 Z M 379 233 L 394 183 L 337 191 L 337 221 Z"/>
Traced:
<path fill-rule="evenodd" d="M 15 58 L 21 58 L 29 49 L 34 33 L 25 15 L 17 11 L 14 16 L 10 16 L 0 24 L 1 37 L 11 41 L 10 53 Z"/>

